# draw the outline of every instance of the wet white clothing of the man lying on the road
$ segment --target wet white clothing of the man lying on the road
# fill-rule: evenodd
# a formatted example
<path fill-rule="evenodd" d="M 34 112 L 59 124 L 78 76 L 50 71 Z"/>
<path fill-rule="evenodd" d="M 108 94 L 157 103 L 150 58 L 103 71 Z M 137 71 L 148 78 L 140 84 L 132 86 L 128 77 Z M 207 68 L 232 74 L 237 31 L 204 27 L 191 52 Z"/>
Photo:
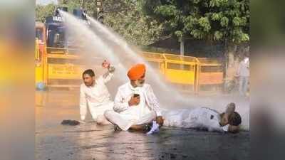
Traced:
<path fill-rule="evenodd" d="M 168 127 L 184 127 L 207 129 L 209 131 L 224 132 L 228 126 L 221 127 L 219 112 L 207 107 L 194 110 L 166 111 L 165 125 Z"/>

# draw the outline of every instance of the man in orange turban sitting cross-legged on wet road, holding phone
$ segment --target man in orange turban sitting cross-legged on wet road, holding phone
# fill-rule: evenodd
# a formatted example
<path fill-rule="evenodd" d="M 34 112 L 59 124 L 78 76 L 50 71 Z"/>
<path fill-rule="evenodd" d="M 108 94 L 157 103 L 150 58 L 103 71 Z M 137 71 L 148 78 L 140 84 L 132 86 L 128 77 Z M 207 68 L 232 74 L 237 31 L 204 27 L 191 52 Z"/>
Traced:
<path fill-rule="evenodd" d="M 134 65 L 128 71 L 130 82 L 121 85 L 115 96 L 114 110 L 105 112 L 105 117 L 120 129 L 146 131 L 153 120 L 163 124 L 160 106 L 152 87 L 145 83 L 145 65 Z"/>

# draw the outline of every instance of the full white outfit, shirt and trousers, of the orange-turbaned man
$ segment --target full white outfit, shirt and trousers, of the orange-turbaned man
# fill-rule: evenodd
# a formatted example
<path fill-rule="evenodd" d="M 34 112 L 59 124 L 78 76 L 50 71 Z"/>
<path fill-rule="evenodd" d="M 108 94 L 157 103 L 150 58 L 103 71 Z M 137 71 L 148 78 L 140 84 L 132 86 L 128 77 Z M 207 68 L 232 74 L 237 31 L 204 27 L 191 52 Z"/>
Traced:
<path fill-rule="evenodd" d="M 140 103 L 129 106 L 128 102 L 134 94 L 140 95 Z M 105 117 L 123 130 L 128 130 L 133 124 L 152 122 L 156 116 L 161 116 L 161 112 L 152 87 L 148 84 L 133 87 L 130 82 L 118 88 L 114 111 L 105 112 Z"/>

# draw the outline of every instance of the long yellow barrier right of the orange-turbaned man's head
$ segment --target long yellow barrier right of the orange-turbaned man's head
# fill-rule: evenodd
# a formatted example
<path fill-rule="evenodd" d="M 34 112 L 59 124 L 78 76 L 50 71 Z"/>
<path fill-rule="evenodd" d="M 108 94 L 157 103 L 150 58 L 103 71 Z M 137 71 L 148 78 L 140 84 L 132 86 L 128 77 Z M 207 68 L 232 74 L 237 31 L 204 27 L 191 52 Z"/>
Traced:
<path fill-rule="evenodd" d="M 199 92 L 223 84 L 224 70 L 219 58 L 195 58 L 167 53 L 142 52 L 142 57 L 159 69 L 167 82 L 182 90 Z"/>

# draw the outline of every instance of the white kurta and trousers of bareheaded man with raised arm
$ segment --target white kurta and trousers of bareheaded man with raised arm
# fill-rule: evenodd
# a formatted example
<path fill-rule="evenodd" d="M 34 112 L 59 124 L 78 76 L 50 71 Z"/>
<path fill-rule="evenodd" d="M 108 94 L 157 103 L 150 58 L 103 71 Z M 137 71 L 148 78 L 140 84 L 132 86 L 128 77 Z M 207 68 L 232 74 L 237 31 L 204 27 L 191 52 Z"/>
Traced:
<path fill-rule="evenodd" d="M 95 85 L 87 87 L 84 83 L 81 85 L 80 91 L 80 114 L 81 120 L 86 119 L 87 106 L 90 114 L 96 121 L 99 115 L 103 115 L 105 110 L 112 110 L 114 103 L 110 100 L 110 93 L 105 85 L 113 77 L 109 73 L 105 78 L 101 75 L 95 80 Z"/>

